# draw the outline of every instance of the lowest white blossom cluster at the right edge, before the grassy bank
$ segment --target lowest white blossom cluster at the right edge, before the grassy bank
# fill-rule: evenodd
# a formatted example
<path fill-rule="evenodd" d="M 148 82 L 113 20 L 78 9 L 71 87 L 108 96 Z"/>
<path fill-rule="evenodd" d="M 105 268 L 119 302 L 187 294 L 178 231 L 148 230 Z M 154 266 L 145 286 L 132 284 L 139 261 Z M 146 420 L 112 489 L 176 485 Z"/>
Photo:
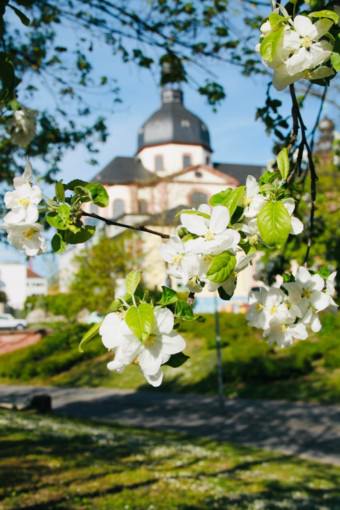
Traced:
<path fill-rule="evenodd" d="M 271 344 L 286 347 L 305 340 L 310 331 L 321 329 L 319 313 L 336 308 L 335 276 L 327 278 L 300 266 L 289 281 L 277 277 L 271 287 L 263 286 L 251 293 L 247 320 L 250 326 L 263 330 Z"/>

